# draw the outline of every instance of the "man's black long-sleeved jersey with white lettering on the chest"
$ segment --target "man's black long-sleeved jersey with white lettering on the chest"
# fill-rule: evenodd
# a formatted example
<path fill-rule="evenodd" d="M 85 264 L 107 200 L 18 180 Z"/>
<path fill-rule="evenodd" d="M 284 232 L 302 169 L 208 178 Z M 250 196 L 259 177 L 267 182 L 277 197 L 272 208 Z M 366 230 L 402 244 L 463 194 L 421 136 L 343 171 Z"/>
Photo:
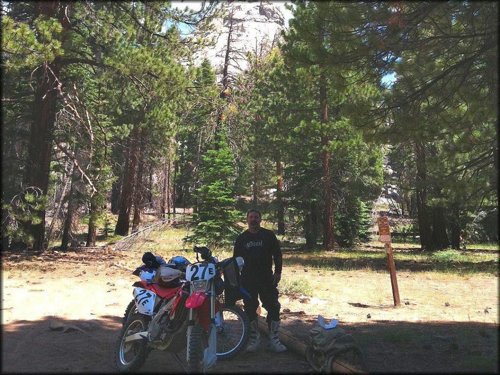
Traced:
<path fill-rule="evenodd" d="M 274 272 L 281 273 L 282 255 L 279 242 L 274 233 L 265 228 L 251 233 L 245 230 L 234 242 L 233 256 L 241 256 L 244 266 L 241 280 L 245 282 L 268 282 L 272 276 L 272 260 Z"/>

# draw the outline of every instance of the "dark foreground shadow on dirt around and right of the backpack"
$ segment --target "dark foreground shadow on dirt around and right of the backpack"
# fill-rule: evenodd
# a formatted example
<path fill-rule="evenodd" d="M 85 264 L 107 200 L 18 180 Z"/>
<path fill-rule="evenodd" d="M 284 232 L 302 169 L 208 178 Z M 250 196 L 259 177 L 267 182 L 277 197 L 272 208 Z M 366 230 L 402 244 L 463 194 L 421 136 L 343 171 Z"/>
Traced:
<path fill-rule="evenodd" d="M 371 315 L 376 317 L 376 312 L 371 310 Z M 282 317 L 281 326 L 308 343 L 316 315 L 301 318 Z M 498 373 L 497 324 L 366 320 L 339 322 L 339 326 L 352 334 L 363 351 L 368 372 Z"/>

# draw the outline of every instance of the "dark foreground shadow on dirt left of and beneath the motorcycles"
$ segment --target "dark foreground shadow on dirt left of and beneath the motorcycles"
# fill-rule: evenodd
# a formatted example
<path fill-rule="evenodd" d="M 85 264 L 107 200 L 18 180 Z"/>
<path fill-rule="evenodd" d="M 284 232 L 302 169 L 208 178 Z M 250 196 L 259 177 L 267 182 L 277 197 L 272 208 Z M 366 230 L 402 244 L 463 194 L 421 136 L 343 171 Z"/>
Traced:
<path fill-rule="evenodd" d="M 48 302 L 47 302 L 48 303 Z M 28 306 L 29 307 L 29 306 Z M 66 332 L 49 328 L 54 322 Z M 114 350 L 120 336 L 121 317 L 95 319 L 42 319 L 2 321 L 1 373 L 116 373 Z M 186 351 L 179 354 L 186 366 Z M 217 361 L 219 373 L 312 373 L 312 367 L 293 352 L 239 353 L 234 359 Z M 170 353 L 153 350 L 139 373 L 185 373 Z"/>

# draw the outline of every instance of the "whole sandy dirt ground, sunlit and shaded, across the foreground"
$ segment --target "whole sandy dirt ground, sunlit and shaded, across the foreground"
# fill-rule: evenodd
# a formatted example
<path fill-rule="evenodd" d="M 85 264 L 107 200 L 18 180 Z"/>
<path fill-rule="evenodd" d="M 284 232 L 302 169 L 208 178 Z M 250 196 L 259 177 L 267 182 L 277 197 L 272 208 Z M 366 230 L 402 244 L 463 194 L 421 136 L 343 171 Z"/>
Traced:
<path fill-rule="evenodd" d="M 115 372 L 114 344 L 136 280 L 126 267 L 140 265 L 140 256 L 102 248 L 2 252 L 1 371 Z M 498 372 L 498 277 L 398 272 L 400 307 L 392 305 L 387 272 L 321 272 L 297 262 L 283 268 L 283 277 L 305 278 L 314 292 L 306 303 L 280 297 L 282 326 L 307 343 L 317 314 L 338 319 L 369 372 Z M 79 329 L 51 330 L 54 322 Z M 141 372 L 182 368 L 156 350 Z M 217 372 L 313 370 L 293 352 L 262 350 L 219 361 Z"/>

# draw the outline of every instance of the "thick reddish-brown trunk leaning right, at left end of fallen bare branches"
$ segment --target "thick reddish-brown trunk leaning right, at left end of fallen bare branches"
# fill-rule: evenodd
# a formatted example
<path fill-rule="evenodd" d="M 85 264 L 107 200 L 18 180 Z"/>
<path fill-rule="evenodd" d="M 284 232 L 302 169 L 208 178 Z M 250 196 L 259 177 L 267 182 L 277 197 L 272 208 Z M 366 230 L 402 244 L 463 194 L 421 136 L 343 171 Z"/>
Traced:
<path fill-rule="evenodd" d="M 132 188 L 135 176 L 135 166 L 137 165 L 137 147 L 140 134 L 140 125 L 135 124 L 128 138 L 128 152 L 126 167 L 123 170 L 123 180 L 121 183 L 120 208 L 118 219 L 114 228 L 115 235 L 127 235 L 130 221 L 130 208 L 132 204 Z"/>

